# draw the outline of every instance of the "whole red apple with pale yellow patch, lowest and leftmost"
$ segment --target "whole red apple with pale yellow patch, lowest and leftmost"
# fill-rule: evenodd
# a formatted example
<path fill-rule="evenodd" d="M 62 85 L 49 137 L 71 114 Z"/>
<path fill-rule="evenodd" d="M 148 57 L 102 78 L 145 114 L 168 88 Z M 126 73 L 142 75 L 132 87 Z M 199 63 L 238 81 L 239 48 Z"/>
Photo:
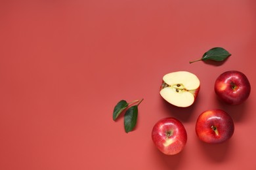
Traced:
<path fill-rule="evenodd" d="M 176 118 L 163 118 L 152 129 L 152 141 L 163 154 L 178 154 L 186 145 L 186 129 Z"/>

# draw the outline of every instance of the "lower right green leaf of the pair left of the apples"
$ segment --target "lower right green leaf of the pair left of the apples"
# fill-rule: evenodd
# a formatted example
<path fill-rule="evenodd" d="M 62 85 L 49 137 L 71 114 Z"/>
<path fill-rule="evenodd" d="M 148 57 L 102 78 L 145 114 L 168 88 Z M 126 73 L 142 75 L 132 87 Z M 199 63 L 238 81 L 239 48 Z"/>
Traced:
<path fill-rule="evenodd" d="M 125 132 L 132 131 L 137 124 L 138 105 L 130 107 L 125 112 Z"/>

